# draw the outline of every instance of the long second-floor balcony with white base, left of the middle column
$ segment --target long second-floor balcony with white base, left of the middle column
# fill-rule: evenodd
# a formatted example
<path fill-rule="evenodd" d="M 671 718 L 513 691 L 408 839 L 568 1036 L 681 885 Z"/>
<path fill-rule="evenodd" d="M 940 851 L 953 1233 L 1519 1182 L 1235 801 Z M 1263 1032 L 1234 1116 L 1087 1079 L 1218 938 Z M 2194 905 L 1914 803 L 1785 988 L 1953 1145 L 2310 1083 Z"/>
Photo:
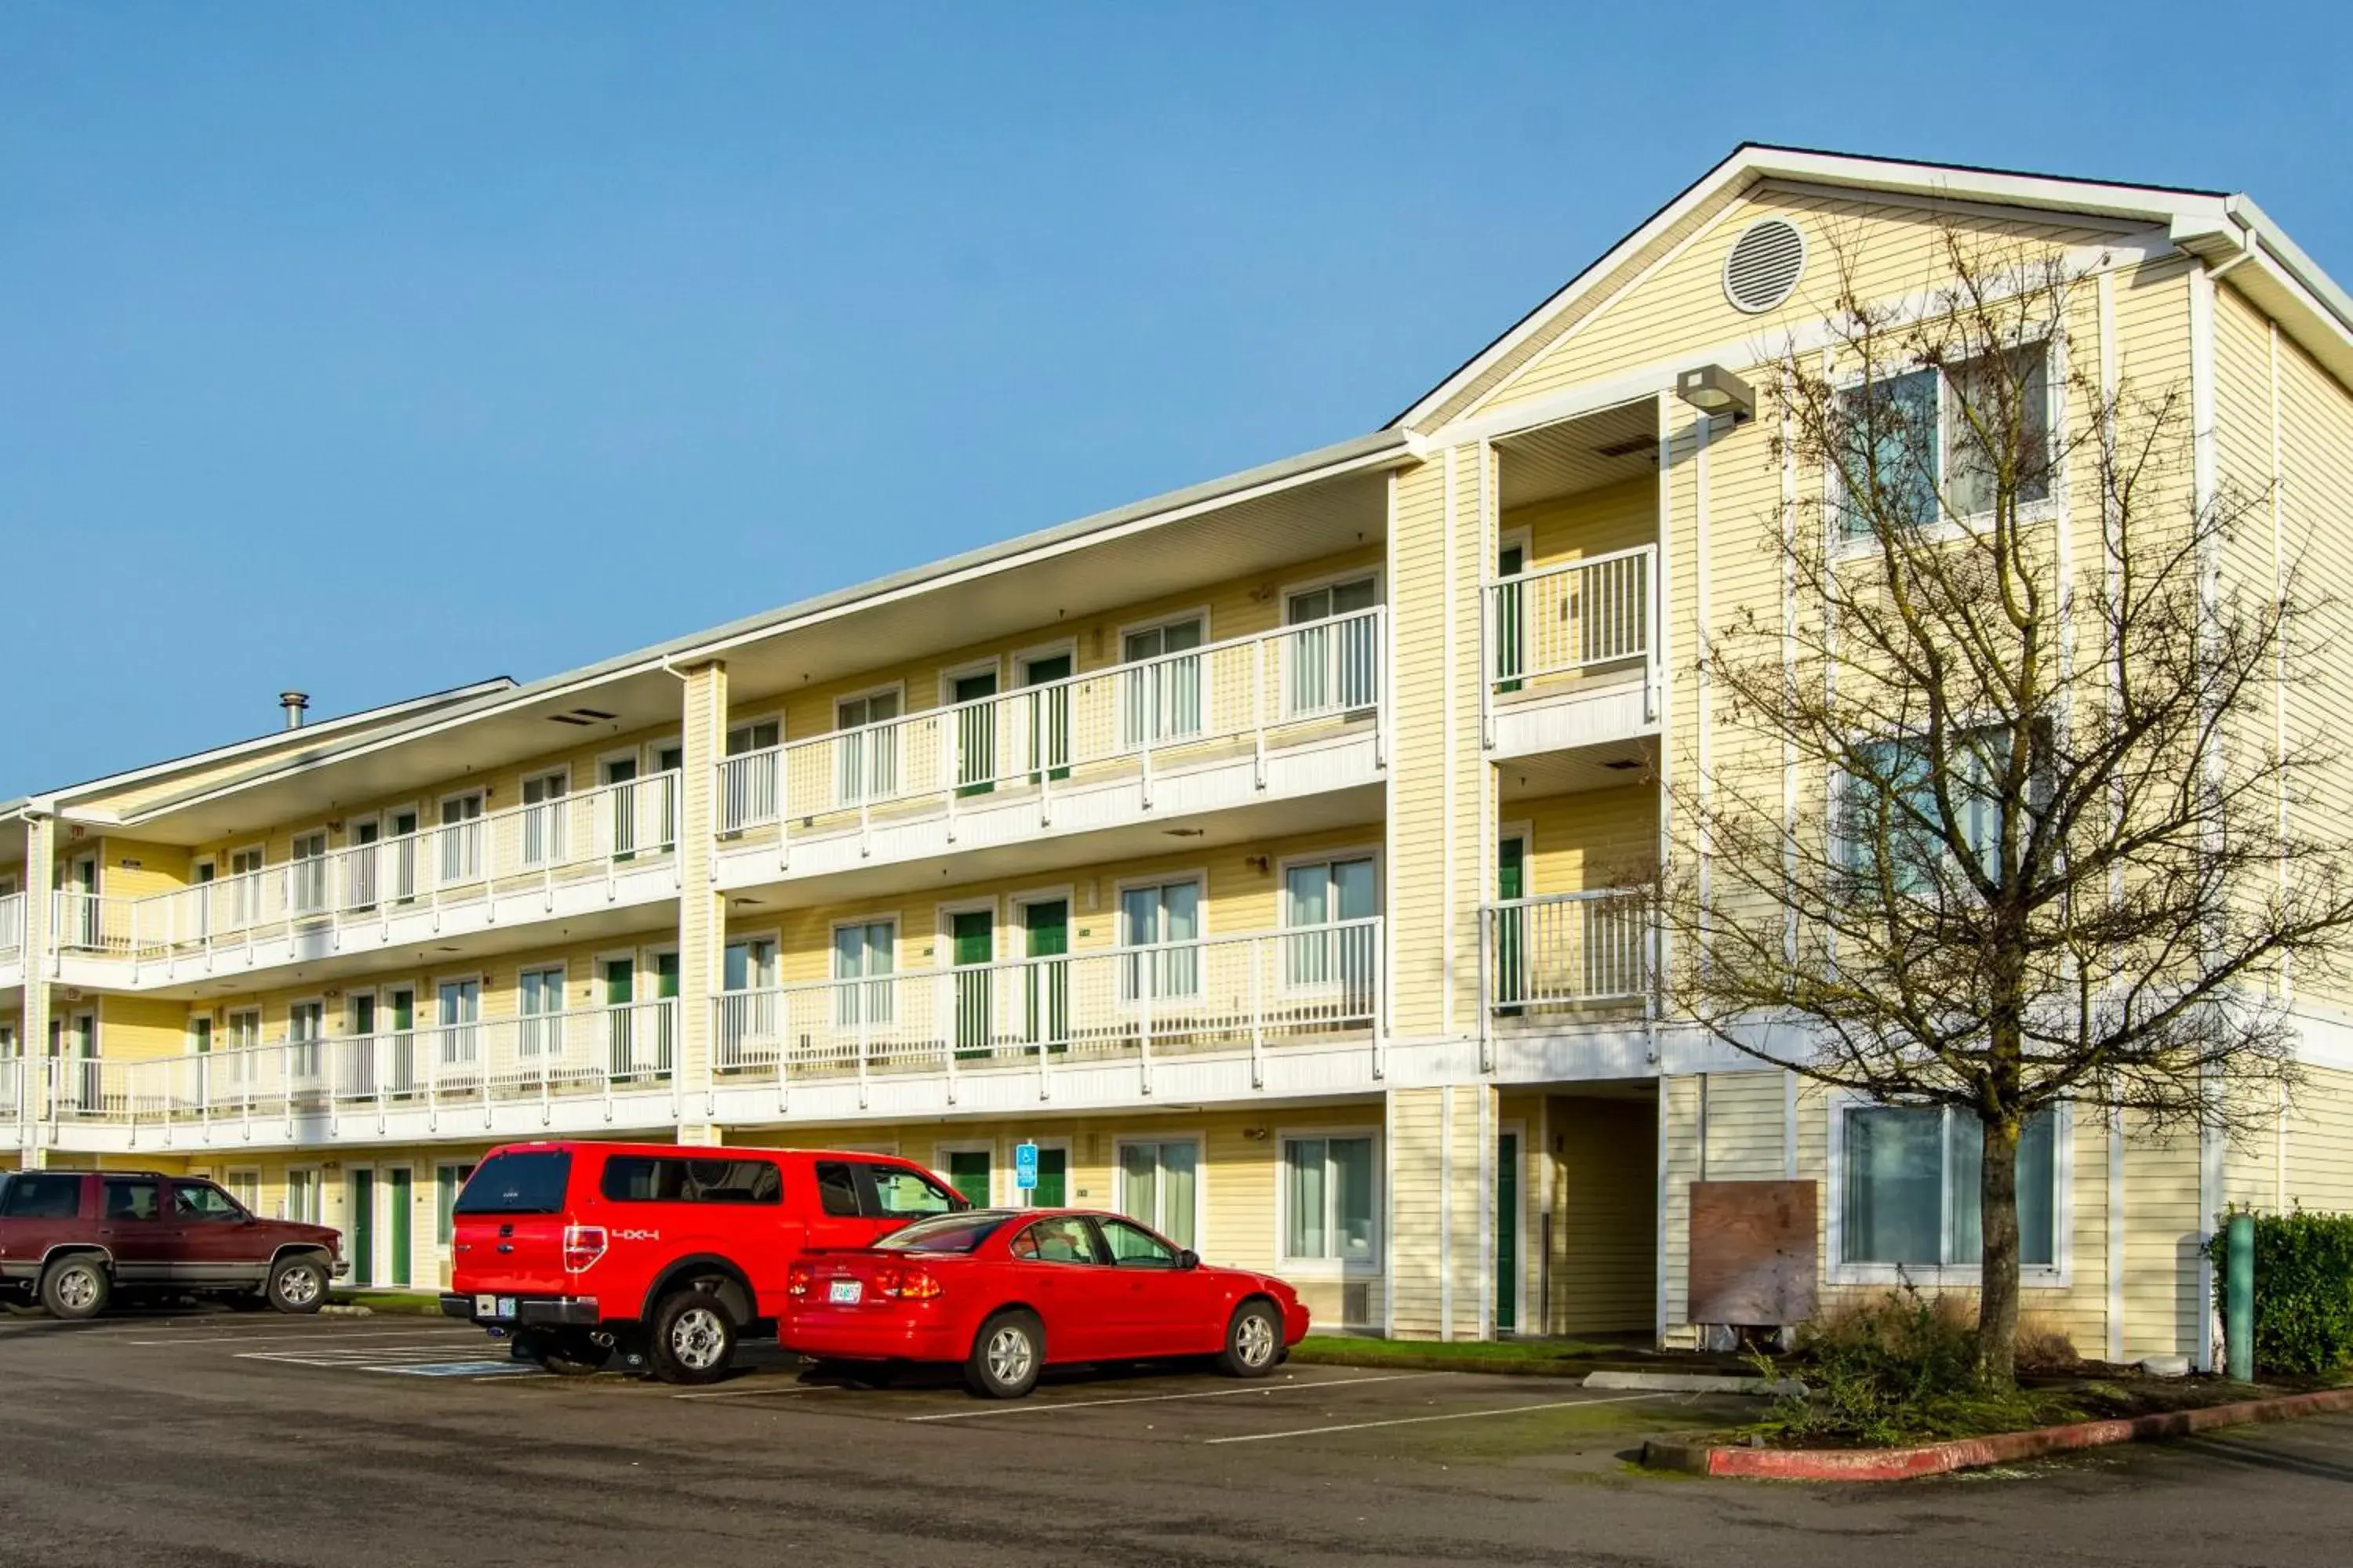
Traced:
<path fill-rule="evenodd" d="M 522 1138 L 678 1119 L 678 1001 L 47 1063 L 61 1147 Z M 16 1065 L 16 1063 L 12 1063 Z"/>

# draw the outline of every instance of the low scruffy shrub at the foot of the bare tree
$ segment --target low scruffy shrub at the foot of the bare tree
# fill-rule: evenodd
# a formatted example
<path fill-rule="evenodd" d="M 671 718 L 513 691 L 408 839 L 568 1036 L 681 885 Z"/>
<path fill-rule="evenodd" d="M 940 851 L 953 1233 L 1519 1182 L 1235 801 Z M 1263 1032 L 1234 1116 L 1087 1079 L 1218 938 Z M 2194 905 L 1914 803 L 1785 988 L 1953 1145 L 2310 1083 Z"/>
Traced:
<path fill-rule="evenodd" d="M 2066 1345 L 2066 1335 L 2054 1335 Z M 2073 1363 L 2073 1345 L 2066 1345 Z M 1838 1307 L 1807 1326 L 1802 1366 L 1760 1375 L 1805 1378 L 1809 1394 L 1779 1399 L 1758 1432 L 1798 1443 L 1908 1443 L 2014 1432 L 2068 1420 L 2052 1396 L 1984 1387 L 1967 1302 L 1904 1286 Z"/>

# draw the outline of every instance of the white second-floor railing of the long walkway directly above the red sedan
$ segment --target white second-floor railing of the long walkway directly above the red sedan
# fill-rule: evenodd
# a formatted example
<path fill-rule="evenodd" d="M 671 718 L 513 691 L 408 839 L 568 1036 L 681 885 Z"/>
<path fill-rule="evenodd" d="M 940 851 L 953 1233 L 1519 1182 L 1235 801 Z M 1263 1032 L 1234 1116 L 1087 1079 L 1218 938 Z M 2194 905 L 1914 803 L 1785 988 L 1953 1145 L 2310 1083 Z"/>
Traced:
<path fill-rule="evenodd" d="M 1377 1037 L 1381 922 L 920 969 L 715 997 L 713 1072 L 866 1079 Z"/>

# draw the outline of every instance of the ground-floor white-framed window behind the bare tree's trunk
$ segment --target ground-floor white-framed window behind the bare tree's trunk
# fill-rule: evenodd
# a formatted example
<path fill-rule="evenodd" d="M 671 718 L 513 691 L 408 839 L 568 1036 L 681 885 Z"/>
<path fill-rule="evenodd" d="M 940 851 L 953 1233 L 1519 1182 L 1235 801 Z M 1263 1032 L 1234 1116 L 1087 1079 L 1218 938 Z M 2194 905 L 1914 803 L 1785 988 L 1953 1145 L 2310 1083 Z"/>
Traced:
<path fill-rule="evenodd" d="M 1974 1117 L 1944 1105 L 1831 1105 L 1833 1269 L 1842 1281 L 1965 1284 L 1981 1248 L 1984 1145 Z M 2019 1265 L 2049 1284 L 2064 1269 L 2064 1112 L 2019 1133 Z"/>

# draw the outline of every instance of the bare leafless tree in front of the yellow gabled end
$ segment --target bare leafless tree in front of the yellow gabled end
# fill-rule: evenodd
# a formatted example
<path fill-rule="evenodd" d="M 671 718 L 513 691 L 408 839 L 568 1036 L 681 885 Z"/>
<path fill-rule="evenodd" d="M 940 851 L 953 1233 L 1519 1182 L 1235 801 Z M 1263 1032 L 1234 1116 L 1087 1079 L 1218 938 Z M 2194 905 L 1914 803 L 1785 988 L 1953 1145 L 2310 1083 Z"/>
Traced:
<path fill-rule="evenodd" d="M 1720 1039 L 1974 1119 L 1979 1375 L 2009 1382 L 2021 1135 L 2061 1103 L 2268 1117 L 2280 976 L 2337 964 L 2353 891 L 2308 802 L 2334 757 L 2273 738 L 2322 649 L 2242 538 L 2259 496 L 2195 498 L 2181 388 L 2082 371 L 2089 282 L 1944 252 L 1925 308 L 1842 256 L 1831 343 L 1772 371 L 1791 609 L 1701 649 L 1718 762 L 1673 795 L 1661 919 Z"/>

